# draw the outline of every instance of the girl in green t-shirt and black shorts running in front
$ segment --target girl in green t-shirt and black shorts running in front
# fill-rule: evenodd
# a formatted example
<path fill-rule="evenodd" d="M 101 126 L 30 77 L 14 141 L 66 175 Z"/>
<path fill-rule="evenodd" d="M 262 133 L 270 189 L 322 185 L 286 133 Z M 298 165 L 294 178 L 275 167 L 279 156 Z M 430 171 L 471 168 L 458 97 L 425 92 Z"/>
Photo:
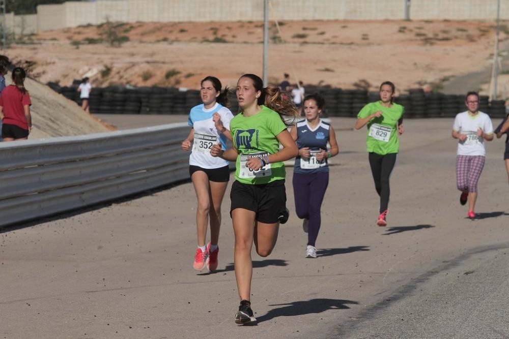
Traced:
<path fill-rule="evenodd" d="M 291 117 L 293 123 L 299 113 L 278 87 L 263 88 L 262 79 L 254 74 L 240 77 L 237 100 L 242 112 L 230 121 L 233 147 L 223 151 L 220 144 L 214 145 L 210 153 L 237 164 L 230 193 L 241 300 L 235 322 L 248 324 L 256 321 L 250 302 L 251 247 L 254 242 L 257 253 L 267 257 L 276 244 L 279 222 L 288 220 L 282 162 L 296 157 L 299 150 L 283 117 Z"/>

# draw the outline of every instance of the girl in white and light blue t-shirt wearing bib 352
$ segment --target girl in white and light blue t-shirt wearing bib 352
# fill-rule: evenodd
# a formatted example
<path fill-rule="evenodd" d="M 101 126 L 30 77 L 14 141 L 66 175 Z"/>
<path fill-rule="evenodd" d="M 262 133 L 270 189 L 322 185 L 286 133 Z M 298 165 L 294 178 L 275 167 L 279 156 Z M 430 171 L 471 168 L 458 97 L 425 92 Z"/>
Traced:
<path fill-rule="evenodd" d="M 207 76 L 203 79 L 200 96 L 203 104 L 191 108 L 188 119 L 191 131 L 181 146 L 185 151 L 191 150 L 189 175 L 198 199 L 196 208 L 198 248 L 194 255 L 193 268 L 202 270 L 207 266 L 209 271 L 214 271 L 218 265 L 221 203 L 230 180 L 230 169 L 229 162 L 212 157 L 210 149 L 215 144 L 226 149 L 227 140 L 232 140 L 230 120 L 233 114 L 228 109 L 228 88 L 221 90 L 218 78 Z M 206 244 L 209 222 L 210 241 Z"/>

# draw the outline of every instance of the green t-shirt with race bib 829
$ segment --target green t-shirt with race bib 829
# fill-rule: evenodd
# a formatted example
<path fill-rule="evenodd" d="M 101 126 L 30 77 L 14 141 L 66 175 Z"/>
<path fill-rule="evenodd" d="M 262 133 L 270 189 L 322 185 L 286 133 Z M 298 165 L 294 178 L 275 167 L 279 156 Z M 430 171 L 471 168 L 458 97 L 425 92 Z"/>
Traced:
<path fill-rule="evenodd" d="M 377 101 L 362 107 L 357 117 L 366 118 L 376 111 L 382 111 L 382 116 L 373 118 L 367 123 L 367 151 L 381 156 L 398 153 L 400 150 L 398 120 L 403 116 L 405 108 L 395 103 L 392 103 L 392 107 L 384 107 Z"/>

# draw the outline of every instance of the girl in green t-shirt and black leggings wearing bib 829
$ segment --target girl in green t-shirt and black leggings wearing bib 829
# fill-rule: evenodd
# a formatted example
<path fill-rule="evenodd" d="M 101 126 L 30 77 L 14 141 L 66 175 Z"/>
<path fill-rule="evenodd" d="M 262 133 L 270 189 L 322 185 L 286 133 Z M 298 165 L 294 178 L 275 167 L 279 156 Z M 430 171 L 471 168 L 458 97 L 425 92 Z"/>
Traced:
<path fill-rule="evenodd" d="M 355 129 L 367 125 L 366 148 L 369 152 L 371 172 L 375 189 L 380 196 L 380 215 L 377 225 L 387 226 L 386 215 L 389 205 L 389 177 L 398 156 L 402 135 L 405 108 L 392 102 L 394 84 L 390 81 L 380 85 L 380 100 L 364 106 L 357 114 Z"/>

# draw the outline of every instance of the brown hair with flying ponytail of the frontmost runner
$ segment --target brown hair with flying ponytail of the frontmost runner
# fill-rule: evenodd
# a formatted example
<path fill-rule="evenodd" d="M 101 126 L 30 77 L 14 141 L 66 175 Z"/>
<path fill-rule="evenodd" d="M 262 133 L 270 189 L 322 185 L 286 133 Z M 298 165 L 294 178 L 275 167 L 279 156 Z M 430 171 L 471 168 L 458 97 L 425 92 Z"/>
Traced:
<path fill-rule="evenodd" d="M 299 110 L 295 107 L 293 100 L 290 100 L 287 94 L 282 93 L 277 86 L 263 87 L 263 80 L 254 74 L 244 74 L 241 78 L 249 78 L 253 82 L 254 89 L 261 91 L 261 95 L 258 98 L 258 105 L 265 105 L 271 110 L 274 110 L 279 114 L 281 120 L 285 122 L 285 125 L 291 126 L 294 124 L 297 117 L 300 115 Z M 290 124 L 285 121 L 284 117 L 292 117 Z"/>

